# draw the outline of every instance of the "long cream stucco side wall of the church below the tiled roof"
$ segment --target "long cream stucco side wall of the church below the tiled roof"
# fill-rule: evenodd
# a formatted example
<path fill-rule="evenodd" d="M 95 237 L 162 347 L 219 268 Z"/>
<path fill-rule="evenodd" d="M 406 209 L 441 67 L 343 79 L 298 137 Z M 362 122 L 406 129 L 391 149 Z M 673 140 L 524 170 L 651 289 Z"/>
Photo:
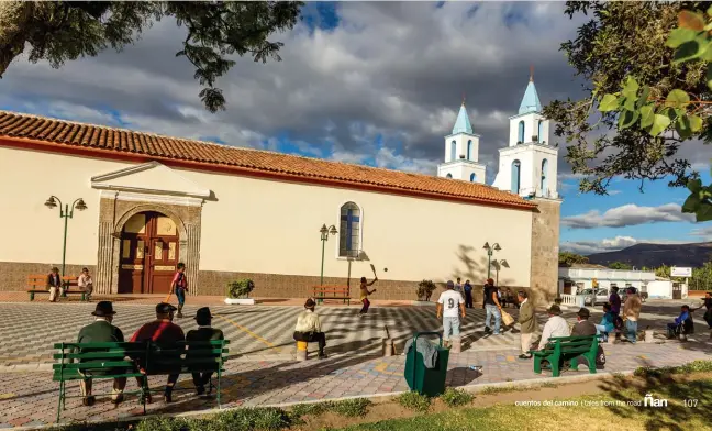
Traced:
<path fill-rule="evenodd" d="M 1 262 L 59 263 L 63 220 L 44 201 L 84 198 L 88 210 L 69 220 L 67 263 L 97 262 L 99 190 L 90 178 L 130 164 L 0 147 Z M 354 201 L 363 209 L 363 251 L 370 261 L 354 262 L 352 276 L 444 280 L 467 276 L 468 259 L 486 275 L 482 244 L 502 246 L 497 258 L 510 268 L 500 281 L 529 286 L 532 213 L 358 190 L 264 180 L 203 172 L 177 170 L 216 201 L 202 209 L 200 269 L 319 275 L 323 223 L 340 229 L 340 207 Z M 160 181 L 160 179 L 156 179 Z M 151 185 L 145 185 L 151 186 Z M 11 244 L 11 246 L 7 246 Z M 348 262 L 337 258 L 338 236 L 326 243 L 325 276 L 344 277 Z M 460 256 L 466 247 L 466 256 Z M 485 264 L 482 264 L 485 263 Z M 388 273 L 383 268 L 388 268 Z M 472 280 L 481 283 L 481 279 Z"/>

